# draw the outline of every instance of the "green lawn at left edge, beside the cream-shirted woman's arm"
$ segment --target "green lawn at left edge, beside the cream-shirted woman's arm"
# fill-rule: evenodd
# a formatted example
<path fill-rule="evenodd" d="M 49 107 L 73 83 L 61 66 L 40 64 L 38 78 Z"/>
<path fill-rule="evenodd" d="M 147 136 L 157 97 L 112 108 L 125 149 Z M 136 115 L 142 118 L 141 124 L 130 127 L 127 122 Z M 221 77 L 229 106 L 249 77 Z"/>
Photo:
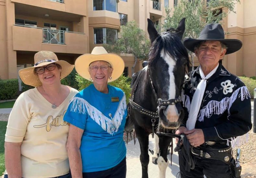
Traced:
<path fill-rule="evenodd" d="M 5 172 L 5 132 L 6 121 L 0 121 L 0 176 Z"/>

